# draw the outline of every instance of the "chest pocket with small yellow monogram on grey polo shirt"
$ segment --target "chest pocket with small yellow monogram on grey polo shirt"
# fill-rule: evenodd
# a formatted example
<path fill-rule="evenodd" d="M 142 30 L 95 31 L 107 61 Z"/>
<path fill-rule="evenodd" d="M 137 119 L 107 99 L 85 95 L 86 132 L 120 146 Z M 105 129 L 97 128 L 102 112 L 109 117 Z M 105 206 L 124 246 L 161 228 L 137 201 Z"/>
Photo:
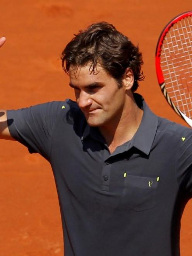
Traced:
<path fill-rule="evenodd" d="M 157 186 L 157 178 L 126 175 L 122 203 L 135 211 L 154 208 Z"/>

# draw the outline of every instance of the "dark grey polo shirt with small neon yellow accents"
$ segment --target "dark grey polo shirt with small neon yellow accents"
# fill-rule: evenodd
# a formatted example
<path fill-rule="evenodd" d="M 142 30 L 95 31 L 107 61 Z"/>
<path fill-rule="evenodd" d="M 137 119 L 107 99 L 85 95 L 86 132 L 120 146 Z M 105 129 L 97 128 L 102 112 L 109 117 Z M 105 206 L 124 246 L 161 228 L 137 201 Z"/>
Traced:
<path fill-rule="evenodd" d="M 110 154 L 71 100 L 7 112 L 12 136 L 51 164 L 65 256 L 178 256 L 180 218 L 192 194 L 192 131 L 144 115 Z"/>

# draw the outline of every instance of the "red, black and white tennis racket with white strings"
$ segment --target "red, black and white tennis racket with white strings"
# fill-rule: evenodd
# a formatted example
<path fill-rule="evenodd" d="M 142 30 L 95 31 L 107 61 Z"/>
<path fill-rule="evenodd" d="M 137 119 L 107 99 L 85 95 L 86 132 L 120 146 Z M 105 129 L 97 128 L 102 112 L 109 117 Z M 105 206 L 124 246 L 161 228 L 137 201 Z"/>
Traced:
<path fill-rule="evenodd" d="M 156 73 L 166 100 L 192 127 L 192 11 L 163 29 L 156 47 Z"/>

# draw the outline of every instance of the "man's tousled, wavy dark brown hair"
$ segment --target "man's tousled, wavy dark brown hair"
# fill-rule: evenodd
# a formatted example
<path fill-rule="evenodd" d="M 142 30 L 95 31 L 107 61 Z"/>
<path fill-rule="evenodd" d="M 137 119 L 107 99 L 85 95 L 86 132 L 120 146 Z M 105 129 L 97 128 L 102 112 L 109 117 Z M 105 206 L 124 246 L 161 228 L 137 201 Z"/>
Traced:
<path fill-rule="evenodd" d="M 61 55 L 62 67 L 69 74 L 70 65 L 84 66 L 90 63 L 90 72 L 101 66 L 122 86 L 125 70 L 130 68 L 134 74 L 132 91 L 138 88 L 138 81 L 144 79 L 141 72 L 142 54 L 139 48 L 122 33 L 107 22 L 94 23 L 87 27 L 67 44 Z"/>

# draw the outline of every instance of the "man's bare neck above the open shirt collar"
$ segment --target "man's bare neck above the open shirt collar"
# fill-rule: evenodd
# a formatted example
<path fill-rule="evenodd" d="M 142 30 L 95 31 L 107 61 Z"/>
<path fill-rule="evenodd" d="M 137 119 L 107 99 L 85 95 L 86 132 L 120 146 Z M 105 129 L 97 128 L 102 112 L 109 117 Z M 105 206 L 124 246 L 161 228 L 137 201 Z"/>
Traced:
<path fill-rule="evenodd" d="M 125 106 L 120 120 L 114 120 L 110 124 L 99 127 L 99 131 L 105 138 L 110 153 L 118 146 L 129 141 L 134 136 L 141 123 L 143 111 L 137 106 L 134 98 Z"/>

